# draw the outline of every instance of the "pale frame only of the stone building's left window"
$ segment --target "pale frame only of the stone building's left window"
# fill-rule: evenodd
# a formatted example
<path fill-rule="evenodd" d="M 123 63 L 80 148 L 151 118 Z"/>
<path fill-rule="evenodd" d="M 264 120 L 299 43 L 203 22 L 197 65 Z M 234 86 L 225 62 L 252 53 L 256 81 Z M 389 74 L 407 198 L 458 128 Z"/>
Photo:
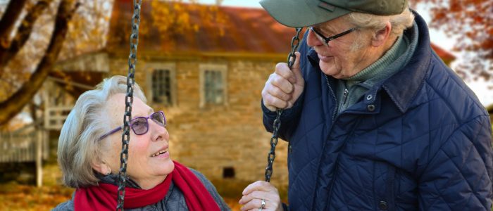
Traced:
<path fill-rule="evenodd" d="M 154 90 L 152 89 L 152 75 L 156 70 L 169 70 L 170 71 L 170 94 L 171 94 L 171 104 L 166 106 L 177 106 L 177 96 L 176 96 L 176 64 L 175 63 L 146 63 L 144 68 L 147 72 L 146 74 L 146 98 L 149 103 L 154 102 Z"/>

